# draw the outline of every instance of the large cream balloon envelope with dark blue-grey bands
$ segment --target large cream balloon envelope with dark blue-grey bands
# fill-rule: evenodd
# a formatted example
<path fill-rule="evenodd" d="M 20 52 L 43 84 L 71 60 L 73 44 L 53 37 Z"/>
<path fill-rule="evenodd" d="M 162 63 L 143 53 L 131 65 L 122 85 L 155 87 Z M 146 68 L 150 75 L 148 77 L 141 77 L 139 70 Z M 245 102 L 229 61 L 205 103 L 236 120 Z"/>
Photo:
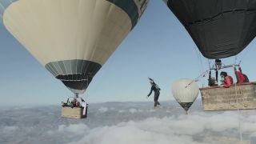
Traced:
<path fill-rule="evenodd" d="M 1 0 L 0 22 L 55 78 L 82 94 L 148 0 Z"/>

